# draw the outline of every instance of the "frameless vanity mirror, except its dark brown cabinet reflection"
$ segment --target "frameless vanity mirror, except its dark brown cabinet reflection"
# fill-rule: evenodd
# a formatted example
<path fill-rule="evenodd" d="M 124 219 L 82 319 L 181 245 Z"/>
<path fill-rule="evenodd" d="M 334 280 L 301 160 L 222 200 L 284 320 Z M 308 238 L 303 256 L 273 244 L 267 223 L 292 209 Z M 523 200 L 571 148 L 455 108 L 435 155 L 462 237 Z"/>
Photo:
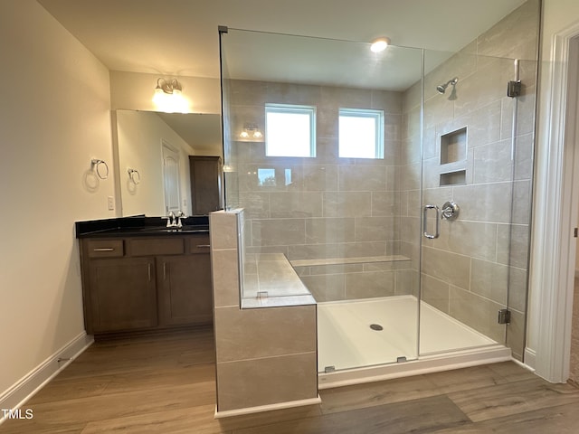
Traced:
<path fill-rule="evenodd" d="M 221 116 L 118 109 L 112 123 L 120 215 L 191 215 L 189 156 L 223 154 Z"/>

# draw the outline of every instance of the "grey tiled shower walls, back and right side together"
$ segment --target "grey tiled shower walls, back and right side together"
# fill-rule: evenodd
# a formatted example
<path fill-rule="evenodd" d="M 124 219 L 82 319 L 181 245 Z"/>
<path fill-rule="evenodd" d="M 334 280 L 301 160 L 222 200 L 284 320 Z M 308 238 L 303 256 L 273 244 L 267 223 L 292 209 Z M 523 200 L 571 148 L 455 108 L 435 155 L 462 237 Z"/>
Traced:
<path fill-rule="evenodd" d="M 423 201 L 441 207 L 453 200 L 460 217 L 441 222 L 440 238 L 423 242 L 422 299 L 498 342 L 506 335 L 518 358 L 524 349 L 539 7 L 538 0 L 520 6 L 428 73 L 424 84 Z M 508 81 L 515 80 L 514 59 L 523 83 L 517 99 L 506 95 Z M 449 87 L 440 95 L 436 86 L 453 77 L 459 78 L 455 91 Z M 267 157 L 262 141 L 233 141 L 226 150 L 233 163 L 226 174 L 228 205 L 248 212 L 248 252 L 282 252 L 290 260 L 401 254 L 409 260 L 298 271 L 318 301 L 417 294 L 422 84 L 399 93 L 226 80 L 225 89 L 232 137 L 244 123 L 263 128 L 266 102 L 318 108 L 315 158 Z M 337 157 L 340 107 L 384 109 L 384 160 Z M 464 128 L 465 158 L 441 164 L 441 137 Z M 275 184 L 260 185 L 259 168 L 274 169 Z M 449 171 L 464 171 L 463 179 L 441 185 L 441 174 Z M 505 327 L 497 316 L 507 302 L 512 316 Z"/>

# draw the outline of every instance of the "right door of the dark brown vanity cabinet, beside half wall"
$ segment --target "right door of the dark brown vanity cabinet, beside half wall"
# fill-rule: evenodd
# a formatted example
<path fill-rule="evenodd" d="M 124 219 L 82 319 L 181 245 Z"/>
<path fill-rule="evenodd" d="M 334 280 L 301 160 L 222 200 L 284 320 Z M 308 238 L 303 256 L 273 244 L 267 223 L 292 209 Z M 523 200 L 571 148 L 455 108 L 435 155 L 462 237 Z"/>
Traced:
<path fill-rule="evenodd" d="M 211 263 L 208 254 L 157 258 L 162 325 L 213 321 Z"/>

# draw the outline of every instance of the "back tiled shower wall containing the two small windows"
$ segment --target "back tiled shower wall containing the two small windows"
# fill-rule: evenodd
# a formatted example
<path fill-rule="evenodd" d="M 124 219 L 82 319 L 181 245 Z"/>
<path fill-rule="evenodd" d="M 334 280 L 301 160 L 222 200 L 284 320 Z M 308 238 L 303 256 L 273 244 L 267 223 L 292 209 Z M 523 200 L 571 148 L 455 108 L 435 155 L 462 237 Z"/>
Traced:
<path fill-rule="evenodd" d="M 250 80 L 229 80 L 227 88 L 231 131 L 237 134 L 245 123 L 263 129 L 266 103 L 317 108 L 315 157 L 268 157 L 262 138 L 233 142 L 249 254 L 281 252 L 289 260 L 399 254 L 401 93 Z M 340 108 L 384 110 L 384 159 L 337 156 Z M 260 183 L 260 169 L 273 170 L 274 179 Z M 408 267 L 409 261 L 386 259 L 297 271 L 314 297 L 327 301 L 415 292 L 407 284 Z"/>

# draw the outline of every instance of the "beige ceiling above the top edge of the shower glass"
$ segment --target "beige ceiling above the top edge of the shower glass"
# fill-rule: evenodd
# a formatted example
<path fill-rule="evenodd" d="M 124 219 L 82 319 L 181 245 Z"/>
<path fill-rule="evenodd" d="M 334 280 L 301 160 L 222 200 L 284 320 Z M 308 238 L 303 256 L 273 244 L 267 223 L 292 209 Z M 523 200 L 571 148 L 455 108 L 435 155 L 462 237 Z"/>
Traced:
<path fill-rule="evenodd" d="M 525 0 L 38 0 L 111 71 L 219 77 L 217 28 L 454 52 Z M 266 56 L 254 58 L 271 67 Z M 283 65 L 280 65 L 282 68 Z"/>

